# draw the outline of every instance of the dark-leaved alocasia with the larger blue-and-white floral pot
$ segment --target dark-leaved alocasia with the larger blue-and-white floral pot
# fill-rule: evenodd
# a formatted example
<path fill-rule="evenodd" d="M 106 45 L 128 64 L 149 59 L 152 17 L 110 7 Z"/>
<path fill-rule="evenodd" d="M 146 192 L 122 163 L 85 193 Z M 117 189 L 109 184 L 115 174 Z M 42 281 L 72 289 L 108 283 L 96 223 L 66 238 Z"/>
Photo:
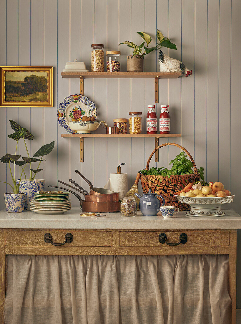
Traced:
<path fill-rule="evenodd" d="M 20 126 L 15 121 L 10 120 L 10 125 L 15 133 L 8 135 L 9 138 L 18 141 L 20 139 L 23 140 L 27 157 L 22 157 L 23 161 L 16 161 L 15 164 L 23 169 L 23 165 L 29 164 L 29 177 L 26 176 L 26 172 L 23 169 L 23 179 L 15 179 L 16 185 L 19 187 L 19 192 L 23 192 L 26 194 L 26 203 L 24 209 L 30 209 L 29 201 L 33 199 L 34 192 L 36 191 L 44 191 L 45 180 L 44 179 L 36 179 L 36 174 L 42 169 L 40 169 L 40 163 L 43 161 L 43 157 L 49 154 L 54 148 L 54 141 L 45 144 L 38 149 L 38 151 L 33 155 L 33 157 L 29 156 L 29 152 L 26 145 L 26 140 L 33 140 L 34 136 L 31 134 L 26 128 Z M 38 162 L 37 168 L 32 168 L 32 163 Z M 11 161 L 13 163 L 13 161 Z M 26 167 L 26 166 L 25 166 Z"/>

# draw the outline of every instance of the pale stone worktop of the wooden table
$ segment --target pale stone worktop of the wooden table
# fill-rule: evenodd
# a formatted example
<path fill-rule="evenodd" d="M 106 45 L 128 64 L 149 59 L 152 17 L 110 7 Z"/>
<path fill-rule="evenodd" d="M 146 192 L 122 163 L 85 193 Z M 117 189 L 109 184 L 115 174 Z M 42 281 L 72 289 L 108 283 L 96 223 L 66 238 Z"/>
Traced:
<path fill-rule="evenodd" d="M 185 212 L 173 218 L 162 216 L 143 216 L 137 212 L 135 217 L 124 217 L 121 213 L 106 213 L 105 217 L 80 216 L 81 209 L 73 207 L 60 215 L 0 212 L 0 228 L 54 228 L 54 229 L 237 229 L 241 228 L 241 216 L 233 210 L 225 210 L 220 217 L 187 217 Z"/>

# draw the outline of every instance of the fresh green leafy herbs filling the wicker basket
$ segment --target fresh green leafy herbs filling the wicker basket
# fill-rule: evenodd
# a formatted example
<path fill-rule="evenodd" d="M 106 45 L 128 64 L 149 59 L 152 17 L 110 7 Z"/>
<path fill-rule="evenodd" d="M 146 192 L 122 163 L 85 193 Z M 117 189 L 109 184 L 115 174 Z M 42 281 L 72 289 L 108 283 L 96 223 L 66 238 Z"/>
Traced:
<path fill-rule="evenodd" d="M 172 164 L 171 169 L 161 167 L 161 168 L 150 168 L 149 170 L 140 170 L 139 173 L 144 173 L 147 175 L 155 175 L 155 176 L 162 176 L 170 178 L 170 176 L 175 175 L 182 175 L 182 174 L 193 174 L 193 164 L 192 161 L 188 160 L 186 157 L 187 155 L 184 155 L 185 152 L 181 152 L 179 155 L 177 155 L 174 160 L 171 160 L 169 165 Z M 204 173 L 203 168 L 201 167 L 198 169 L 198 173 L 200 175 L 200 178 L 204 180 Z M 160 179 L 161 181 L 161 179 Z"/>

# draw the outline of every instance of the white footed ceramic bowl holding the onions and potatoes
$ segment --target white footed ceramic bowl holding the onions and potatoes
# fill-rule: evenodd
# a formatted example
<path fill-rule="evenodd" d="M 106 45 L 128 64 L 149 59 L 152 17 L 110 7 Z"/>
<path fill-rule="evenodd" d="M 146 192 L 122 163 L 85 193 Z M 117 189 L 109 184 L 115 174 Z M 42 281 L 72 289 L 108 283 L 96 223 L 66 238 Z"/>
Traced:
<path fill-rule="evenodd" d="M 187 216 L 199 217 L 217 217 L 224 216 L 225 213 L 221 210 L 223 203 L 232 203 L 234 195 L 228 197 L 183 197 L 173 195 L 180 203 L 187 203 L 191 209 L 186 212 Z"/>

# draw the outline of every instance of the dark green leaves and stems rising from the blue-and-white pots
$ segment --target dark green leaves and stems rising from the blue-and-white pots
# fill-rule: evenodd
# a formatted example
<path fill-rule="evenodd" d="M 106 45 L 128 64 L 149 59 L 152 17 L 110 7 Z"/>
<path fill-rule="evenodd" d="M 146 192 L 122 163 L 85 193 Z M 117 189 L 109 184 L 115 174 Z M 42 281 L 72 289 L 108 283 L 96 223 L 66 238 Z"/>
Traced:
<path fill-rule="evenodd" d="M 13 181 L 13 186 L 10 183 L 5 182 L 5 181 L 0 181 L 0 182 L 8 184 L 12 188 L 13 193 L 18 194 L 20 182 L 22 179 L 22 174 L 24 174 L 25 180 L 27 180 L 26 173 L 24 171 L 26 166 L 29 164 L 29 167 L 30 167 L 29 180 L 34 180 L 36 174 L 38 172 L 42 171 L 42 169 L 39 169 L 39 166 L 40 166 L 41 161 L 44 160 L 43 156 L 49 154 L 52 151 L 52 149 L 54 148 L 54 141 L 49 144 L 43 145 L 42 147 L 40 147 L 38 149 L 38 151 L 33 155 L 33 157 L 30 157 L 25 140 L 32 140 L 34 138 L 34 136 L 26 128 L 21 127 L 13 120 L 10 120 L 10 125 L 11 125 L 12 129 L 15 131 L 15 133 L 8 135 L 8 137 L 14 139 L 17 142 L 15 154 L 13 155 L 13 154 L 7 153 L 5 156 L 1 157 L 0 161 L 3 163 L 9 164 L 9 170 L 10 170 L 10 175 L 11 175 L 11 178 Z M 23 161 L 18 161 L 18 159 L 21 157 L 21 155 L 16 154 L 17 153 L 17 145 L 21 138 L 23 139 L 24 144 L 25 144 L 27 157 L 22 157 Z M 40 156 L 41 156 L 41 158 L 39 159 L 38 157 L 40 157 Z M 32 169 L 32 166 L 31 166 L 31 163 L 34 163 L 34 162 L 38 162 L 38 167 L 36 170 Z M 11 168 L 11 163 L 14 165 L 13 171 Z M 16 165 L 22 169 L 18 185 L 16 185 Z M 25 165 L 24 168 L 23 168 L 23 165 Z"/>

